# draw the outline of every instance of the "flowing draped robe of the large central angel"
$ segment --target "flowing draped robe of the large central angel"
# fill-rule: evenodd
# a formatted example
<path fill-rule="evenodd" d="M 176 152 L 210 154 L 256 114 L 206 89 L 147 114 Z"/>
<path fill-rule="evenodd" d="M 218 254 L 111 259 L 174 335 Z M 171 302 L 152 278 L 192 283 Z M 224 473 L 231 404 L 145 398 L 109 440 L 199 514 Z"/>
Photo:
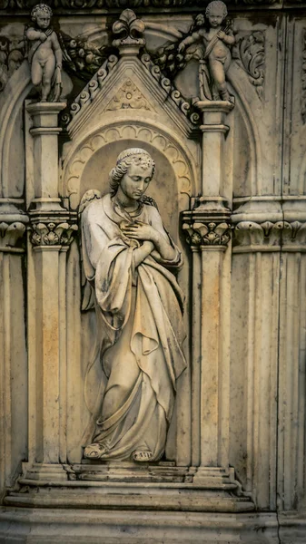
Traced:
<path fill-rule="evenodd" d="M 141 450 L 158 461 L 176 380 L 186 367 L 183 294 L 170 271 L 182 265 L 182 257 L 151 205 L 143 204 L 135 219 L 157 229 L 176 255 L 167 261 L 154 250 L 136 268 L 139 243 L 121 230 L 133 218 L 110 195 L 94 200 L 82 215 L 84 272 L 94 287 L 98 358 L 107 380 L 84 442 L 102 444 L 103 460 L 128 460 Z"/>

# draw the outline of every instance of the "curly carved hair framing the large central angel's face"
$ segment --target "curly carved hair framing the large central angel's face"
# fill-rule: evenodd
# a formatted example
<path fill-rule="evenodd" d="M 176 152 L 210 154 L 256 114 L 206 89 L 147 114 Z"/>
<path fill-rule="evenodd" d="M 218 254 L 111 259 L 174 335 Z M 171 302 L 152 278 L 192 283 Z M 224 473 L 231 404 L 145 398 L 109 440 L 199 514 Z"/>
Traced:
<path fill-rule="evenodd" d="M 116 194 L 124 174 L 126 174 L 132 164 L 141 166 L 143 170 L 152 167 L 153 177 L 155 162 L 148 151 L 144 151 L 141 148 L 129 148 L 128 150 L 124 150 L 118 156 L 115 167 L 109 173 L 110 187 L 113 196 Z"/>

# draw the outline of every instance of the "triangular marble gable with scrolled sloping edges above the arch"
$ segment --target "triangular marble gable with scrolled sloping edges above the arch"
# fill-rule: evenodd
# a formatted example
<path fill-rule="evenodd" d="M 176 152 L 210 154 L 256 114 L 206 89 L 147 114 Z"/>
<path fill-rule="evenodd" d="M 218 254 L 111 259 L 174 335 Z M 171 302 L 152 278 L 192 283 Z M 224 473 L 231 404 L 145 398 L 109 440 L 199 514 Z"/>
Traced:
<path fill-rule="evenodd" d="M 191 104 L 163 76 L 148 54 L 120 59 L 112 55 L 74 100 L 67 130 L 73 137 L 93 119 L 123 110 L 161 114 L 164 122 L 176 124 L 185 134 L 190 134 L 199 121 Z"/>

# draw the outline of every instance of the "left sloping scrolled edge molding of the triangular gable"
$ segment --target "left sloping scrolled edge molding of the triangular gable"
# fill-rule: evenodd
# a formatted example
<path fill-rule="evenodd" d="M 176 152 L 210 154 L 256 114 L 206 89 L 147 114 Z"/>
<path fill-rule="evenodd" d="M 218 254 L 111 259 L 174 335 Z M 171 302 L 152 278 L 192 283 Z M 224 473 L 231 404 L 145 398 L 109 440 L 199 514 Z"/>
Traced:
<path fill-rule="evenodd" d="M 80 112 L 87 103 L 93 102 L 94 97 L 99 92 L 99 90 L 102 88 L 104 80 L 108 76 L 108 74 L 113 70 L 116 63 L 118 63 L 118 57 L 116 57 L 114 54 L 110 55 L 108 59 L 104 62 L 104 64 L 99 68 L 99 70 L 94 74 L 94 77 L 90 80 L 87 85 L 85 85 L 84 89 L 80 94 L 76 97 L 74 102 L 71 104 L 70 107 L 70 114 L 71 117 L 75 117 L 75 115 Z M 69 119 L 64 120 L 66 124 L 69 122 Z"/>

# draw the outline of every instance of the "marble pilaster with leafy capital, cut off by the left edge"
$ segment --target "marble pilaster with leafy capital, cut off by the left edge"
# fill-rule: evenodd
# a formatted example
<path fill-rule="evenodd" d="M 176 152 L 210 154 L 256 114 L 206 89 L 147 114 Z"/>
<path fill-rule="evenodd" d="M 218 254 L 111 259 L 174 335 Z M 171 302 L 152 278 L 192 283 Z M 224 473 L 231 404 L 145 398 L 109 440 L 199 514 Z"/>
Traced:
<path fill-rule="evenodd" d="M 29 219 L 19 209 L 23 204 L 23 199 L 0 199 L 0 497 L 13 485 L 26 449 L 22 260 Z"/>

